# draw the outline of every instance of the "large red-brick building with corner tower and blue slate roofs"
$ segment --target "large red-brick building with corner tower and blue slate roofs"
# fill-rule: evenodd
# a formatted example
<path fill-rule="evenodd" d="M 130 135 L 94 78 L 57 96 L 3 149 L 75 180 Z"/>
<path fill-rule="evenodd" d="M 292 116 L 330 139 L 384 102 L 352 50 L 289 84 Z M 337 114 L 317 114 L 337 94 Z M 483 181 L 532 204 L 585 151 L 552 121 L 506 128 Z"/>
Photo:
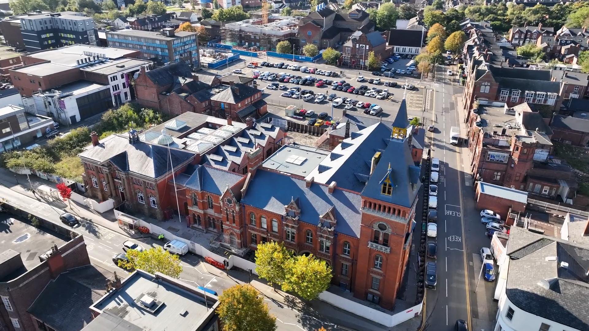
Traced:
<path fill-rule="evenodd" d="M 167 194 L 178 190 L 188 226 L 219 234 L 211 246 L 243 255 L 282 241 L 333 266 L 332 282 L 342 289 L 392 309 L 421 188 L 408 126 L 403 100 L 392 132 L 378 122 L 350 132 L 332 151 L 284 145 L 266 157 L 255 145 L 244 153 L 245 173 L 217 167 L 210 161 L 222 155 L 207 154 L 207 161 L 178 168 L 177 188 L 168 186 Z"/>

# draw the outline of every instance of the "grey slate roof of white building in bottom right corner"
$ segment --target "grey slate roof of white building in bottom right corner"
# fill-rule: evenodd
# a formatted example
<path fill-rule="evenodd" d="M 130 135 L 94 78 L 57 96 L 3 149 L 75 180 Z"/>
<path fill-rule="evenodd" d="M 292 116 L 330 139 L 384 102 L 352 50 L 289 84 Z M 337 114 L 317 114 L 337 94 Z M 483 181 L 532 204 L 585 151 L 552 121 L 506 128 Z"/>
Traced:
<path fill-rule="evenodd" d="M 511 227 L 507 245 L 505 294 L 511 303 L 533 315 L 589 330 L 589 249 L 519 227 Z"/>

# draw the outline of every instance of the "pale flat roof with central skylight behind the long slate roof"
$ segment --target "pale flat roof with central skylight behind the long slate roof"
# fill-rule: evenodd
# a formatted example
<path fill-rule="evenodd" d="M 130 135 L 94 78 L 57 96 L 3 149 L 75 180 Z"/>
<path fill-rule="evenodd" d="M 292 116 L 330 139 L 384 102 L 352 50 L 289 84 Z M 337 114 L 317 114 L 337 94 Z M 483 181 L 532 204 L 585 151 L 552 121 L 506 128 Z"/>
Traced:
<path fill-rule="evenodd" d="M 305 145 L 284 145 L 262 163 L 267 169 L 306 177 L 329 155 L 329 151 Z"/>

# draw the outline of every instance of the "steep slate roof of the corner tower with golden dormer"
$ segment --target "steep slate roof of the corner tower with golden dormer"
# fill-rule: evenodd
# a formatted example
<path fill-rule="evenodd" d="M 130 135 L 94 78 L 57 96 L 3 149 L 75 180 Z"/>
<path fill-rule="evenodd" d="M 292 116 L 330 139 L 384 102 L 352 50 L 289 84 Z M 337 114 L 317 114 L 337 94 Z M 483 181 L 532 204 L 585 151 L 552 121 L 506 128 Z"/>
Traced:
<path fill-rule="evenodd" d="M 393 186 L 391 196 L 380 193 L 381 181 L 389 173 L 389 165 L 391 168 L 389 178 L 391 178 Z M 403 207 L 411 207 L 420 187 L 419 167 L 413 164 L 408 142 L 391 139 L 385 151 L 380 155 L 380 160 L 368 179 L 366 187 L 362 190 L 362 196 Z"/>

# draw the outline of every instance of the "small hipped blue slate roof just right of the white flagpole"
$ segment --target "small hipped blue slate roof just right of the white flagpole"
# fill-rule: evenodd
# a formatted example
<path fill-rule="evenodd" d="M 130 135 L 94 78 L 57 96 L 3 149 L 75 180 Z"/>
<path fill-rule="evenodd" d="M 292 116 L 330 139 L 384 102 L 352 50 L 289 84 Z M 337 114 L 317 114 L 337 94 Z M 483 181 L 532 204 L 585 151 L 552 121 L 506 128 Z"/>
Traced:
<path fill-rule="evenodd" d="M 218 196 L 225 191 L 227 186 L 233 187 L 244 175 L 220 170 L 211 166 L 198 166 L 190 175 L 184 186 L 196 191 L 206 191 Z"/>

